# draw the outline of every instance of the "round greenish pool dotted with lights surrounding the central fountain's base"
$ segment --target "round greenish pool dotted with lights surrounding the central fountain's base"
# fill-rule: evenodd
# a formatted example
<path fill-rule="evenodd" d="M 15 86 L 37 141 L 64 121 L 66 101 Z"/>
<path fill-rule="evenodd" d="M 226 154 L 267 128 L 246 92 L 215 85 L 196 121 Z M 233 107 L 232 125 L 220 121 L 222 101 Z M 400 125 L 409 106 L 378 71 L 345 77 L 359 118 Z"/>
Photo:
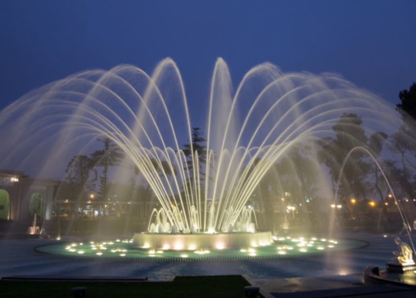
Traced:
<path fill-rule="evenodd" d="M 155 248 L 137 248 L 132 239 L 114 239 L 105 241 L 60 242 L 57 244 L 38 246 L 35 250 L 42 253 L 75 258 L 117 259 L 129 261 L 184 261 L 201 259 L 238 260 L 256 258 L 299 258 L 359 248 L 366 245 L 366 242 L 354 239 L 273 237 L 273 242 L 270 245 L 260 245 L 256 247 L 163 250 Z"/>

